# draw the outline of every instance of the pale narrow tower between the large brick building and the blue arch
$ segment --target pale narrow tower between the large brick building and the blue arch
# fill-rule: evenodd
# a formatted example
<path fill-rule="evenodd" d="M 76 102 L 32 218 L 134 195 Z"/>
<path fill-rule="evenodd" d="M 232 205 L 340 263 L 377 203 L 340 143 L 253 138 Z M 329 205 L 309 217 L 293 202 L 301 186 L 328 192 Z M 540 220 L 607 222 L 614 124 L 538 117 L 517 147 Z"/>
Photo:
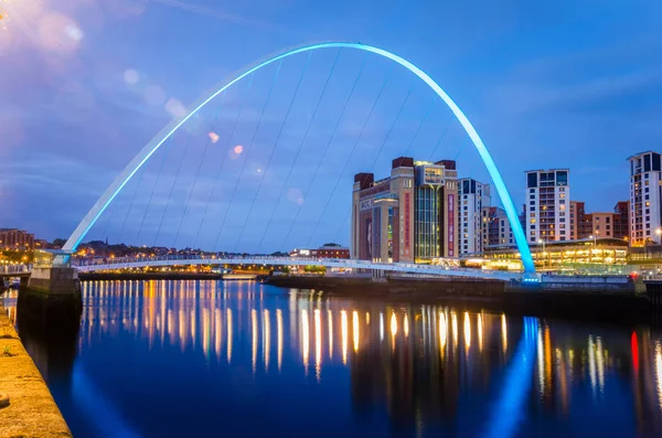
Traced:
<path fill-rule="evenodd" d="M 490 185 L 471 178 L 463 178 L 459 180 L 458 190 L 460 254 L 482 253 L 482 215 L 483 209 L 490 206 Z"/>

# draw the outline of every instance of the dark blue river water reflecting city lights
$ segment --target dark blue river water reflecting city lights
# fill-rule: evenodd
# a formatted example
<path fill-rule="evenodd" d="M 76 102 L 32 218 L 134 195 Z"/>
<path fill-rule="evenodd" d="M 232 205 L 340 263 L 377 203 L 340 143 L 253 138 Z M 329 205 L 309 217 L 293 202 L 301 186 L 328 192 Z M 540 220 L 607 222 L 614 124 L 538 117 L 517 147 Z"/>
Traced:
<path fill-rule="evenodd" d="M 83 300 L 56 342 L 18 321 L 75 437 L 662 434 L 649 325 L 253 281 L 93 281 Z"/>

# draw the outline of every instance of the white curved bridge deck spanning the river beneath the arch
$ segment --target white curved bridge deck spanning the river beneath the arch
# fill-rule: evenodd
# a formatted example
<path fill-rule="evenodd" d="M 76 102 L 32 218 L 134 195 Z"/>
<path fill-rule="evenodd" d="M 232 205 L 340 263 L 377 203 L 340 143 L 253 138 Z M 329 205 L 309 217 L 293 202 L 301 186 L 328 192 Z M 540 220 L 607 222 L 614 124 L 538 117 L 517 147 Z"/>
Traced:
<path fill-rule="evenodd" d="M 377 263 L 346 258 L 313 258 L 313 257 L 269 257 L 269 256 L 159 256 L 146 258 L 96 258 L 74 259 L 72 265 L 79 273 L 98 273 L 104 270 L 158 268 L 168 266 L 196 265 L 263 265 L 263 266 L 324 266 L 335 269 L 363 269 L 382 273 L 415 274 L 436 277 L 461 277 L 501 281 L 526 280 L 522 273 L 503 270 L 472 269 L 451 266 L 450 261 L 441 265 L 419 265 L 407 263 Z"/>

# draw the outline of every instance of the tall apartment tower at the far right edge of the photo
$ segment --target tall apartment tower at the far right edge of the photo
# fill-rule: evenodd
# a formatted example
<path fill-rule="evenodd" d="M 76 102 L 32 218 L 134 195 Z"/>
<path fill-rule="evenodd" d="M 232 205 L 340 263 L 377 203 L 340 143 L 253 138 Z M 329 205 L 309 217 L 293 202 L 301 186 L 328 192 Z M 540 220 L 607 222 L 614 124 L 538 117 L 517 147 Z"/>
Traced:
<path fill-rule="evenodd" d="M 662 160 L 647 151 L 628 158 L 630 162 L 630 245 L 660 243 L 662 238 Z"/>

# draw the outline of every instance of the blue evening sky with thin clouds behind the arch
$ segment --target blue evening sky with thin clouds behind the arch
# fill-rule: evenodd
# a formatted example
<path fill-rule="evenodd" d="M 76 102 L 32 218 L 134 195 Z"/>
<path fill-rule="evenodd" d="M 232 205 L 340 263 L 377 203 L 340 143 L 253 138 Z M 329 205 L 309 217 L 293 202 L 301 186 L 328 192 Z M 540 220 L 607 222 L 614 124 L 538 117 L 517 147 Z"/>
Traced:
<path fill-rule="evenodd" d="M 659 1 L 6 0 L 0 15 L 0 226 L 38 237 L 68 236 L 142 146 L 233 72 L 320 41 L 373 44 L 425 70 L 474 124 L 517 205 L 524 170 L 569 168 L 572 199 L 611 211 L 628 197 L 627 157 L 660 150 Z M 385 177 L 408 152 L 458 158 L 462 177 L 489 182 L 437 104 L 374 56 L 292 57 L 188 124 L 88 237 L 346 244 L 355 172 Z"/>

